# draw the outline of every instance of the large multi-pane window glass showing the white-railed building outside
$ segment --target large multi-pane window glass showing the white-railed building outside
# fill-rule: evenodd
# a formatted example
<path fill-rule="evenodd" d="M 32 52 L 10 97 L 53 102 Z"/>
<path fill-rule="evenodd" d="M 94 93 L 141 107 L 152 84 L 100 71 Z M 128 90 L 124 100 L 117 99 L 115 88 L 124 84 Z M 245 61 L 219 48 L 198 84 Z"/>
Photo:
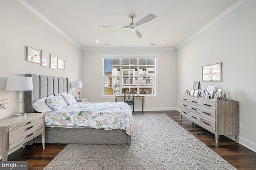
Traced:
<path fill-rule="evenodd" d="M 156 96 L 156 55 L 136 57 L 102 56 L 102 97 L 135 92 Z"/>

